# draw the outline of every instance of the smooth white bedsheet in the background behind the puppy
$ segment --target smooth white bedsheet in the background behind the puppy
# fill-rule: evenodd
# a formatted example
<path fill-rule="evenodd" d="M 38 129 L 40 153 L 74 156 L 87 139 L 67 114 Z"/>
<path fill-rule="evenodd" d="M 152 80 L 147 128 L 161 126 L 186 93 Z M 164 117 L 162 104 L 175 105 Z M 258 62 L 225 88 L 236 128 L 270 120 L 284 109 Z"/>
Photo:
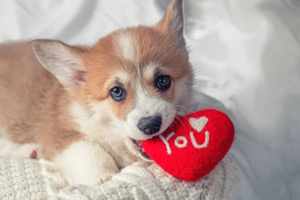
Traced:
<path fill-rule="evenodd" d="M 0 41 L 92 43 L 116 28 L 155 23 L 168 1 L 0 0 Z M 234 199 L 299 199 L 300 1 L 205 1 L 185 0 L 186 22 L 201 17 L 197 32 L 186 24 L 186 40 L 197 108 L 223 106 L 236 127 Z"/>

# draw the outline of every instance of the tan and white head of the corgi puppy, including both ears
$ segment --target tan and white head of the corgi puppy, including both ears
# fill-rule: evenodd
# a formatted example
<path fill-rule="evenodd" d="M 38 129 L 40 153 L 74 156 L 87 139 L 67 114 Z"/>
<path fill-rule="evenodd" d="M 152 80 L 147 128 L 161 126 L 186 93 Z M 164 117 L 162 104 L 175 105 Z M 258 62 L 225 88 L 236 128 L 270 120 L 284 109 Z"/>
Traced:
<path fill-rule="evenodd" d="M 155 26 L 117 30 L 91 47 L 53 40 L 31 47 L 98 123 L 142 140 L 164 131 L 189 101 L 192 70 L 182 33 L 182 2 L 173 0 Z"/>

